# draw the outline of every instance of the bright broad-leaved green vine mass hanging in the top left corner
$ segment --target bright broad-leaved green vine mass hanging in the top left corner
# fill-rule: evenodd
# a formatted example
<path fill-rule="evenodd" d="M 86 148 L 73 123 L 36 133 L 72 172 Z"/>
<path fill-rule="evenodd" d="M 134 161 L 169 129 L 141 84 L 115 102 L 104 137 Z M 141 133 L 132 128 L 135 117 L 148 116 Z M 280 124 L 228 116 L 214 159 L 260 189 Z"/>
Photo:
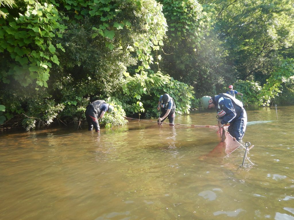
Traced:
<path fill-rule="evenodd" d="M 34 82 L 47 87 L 52 63 L 59 64 L 52 38 L 64 31 L 58 11 L 46 2 L 25 1 L 3 9 L 0 18 L 0 80 L 9 84 L 16 80 L 21 86 Z"/>

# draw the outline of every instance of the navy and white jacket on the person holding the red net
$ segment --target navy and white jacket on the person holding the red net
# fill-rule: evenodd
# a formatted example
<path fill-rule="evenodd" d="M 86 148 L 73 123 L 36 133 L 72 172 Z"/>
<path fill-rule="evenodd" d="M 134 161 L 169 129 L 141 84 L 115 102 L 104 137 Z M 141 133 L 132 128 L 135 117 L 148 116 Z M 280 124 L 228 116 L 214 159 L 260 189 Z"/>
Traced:
<path fill-rule="evenodd" d="M 222 124 L 234 123 L 244 110 L 242 102 L 233 96 L 221 93 L 212 98 L 217 109 L 217 114 Z"/>

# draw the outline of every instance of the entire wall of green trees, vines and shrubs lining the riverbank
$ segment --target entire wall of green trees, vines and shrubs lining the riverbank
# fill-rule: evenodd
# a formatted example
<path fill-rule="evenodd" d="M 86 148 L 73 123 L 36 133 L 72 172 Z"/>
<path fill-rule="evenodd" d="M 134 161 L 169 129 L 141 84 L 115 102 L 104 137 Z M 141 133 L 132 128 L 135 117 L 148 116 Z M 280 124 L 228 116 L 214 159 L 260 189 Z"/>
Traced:
<path fill-rule="evenodd" d="M 178 114 L 230 84 L 246 106 L 294 103 L 290 0 L 2 0 L 0 124 L 26 130 L 84 119 L 156 117 L 168 93 Z"/>

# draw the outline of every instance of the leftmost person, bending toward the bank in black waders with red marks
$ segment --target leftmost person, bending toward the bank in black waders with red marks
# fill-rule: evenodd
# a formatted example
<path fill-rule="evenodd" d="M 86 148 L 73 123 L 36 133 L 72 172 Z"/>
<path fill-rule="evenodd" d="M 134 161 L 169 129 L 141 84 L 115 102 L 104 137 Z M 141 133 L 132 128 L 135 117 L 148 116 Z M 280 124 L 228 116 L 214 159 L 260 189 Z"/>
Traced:
<path fill-rule="evenodd" d="M 102 118 L 105 112 L 111 113 L 113 111 L 113 106 L 107 104 L 104 100 L 96 100 L 91 102 L 86 107 L 85 115 L 88 122 L 88 130 L 92 131 L 93 127 L 96 132 L 100 131 L 100 126 L 98 122 L 98 118 Z"/>

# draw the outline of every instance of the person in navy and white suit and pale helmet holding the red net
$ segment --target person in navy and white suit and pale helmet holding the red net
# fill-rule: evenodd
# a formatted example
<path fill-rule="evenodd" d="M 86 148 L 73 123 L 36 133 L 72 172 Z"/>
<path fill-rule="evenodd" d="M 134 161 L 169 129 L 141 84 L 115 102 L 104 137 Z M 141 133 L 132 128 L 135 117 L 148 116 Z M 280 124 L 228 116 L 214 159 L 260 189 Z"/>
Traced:
<path fill-rule="evenodd" d="M 242 102 L 229 94 L 221 93 L 213 97 L 203 96 L 201 105 L 204 109 L 216 108 L 219 119 L 221 119 L 218 121 L 218 126 L 223 127 L 224 124 L 230 123 L 228 127 L 230 135 L 238 141 L 243 138 L 247 114 Z"/>

